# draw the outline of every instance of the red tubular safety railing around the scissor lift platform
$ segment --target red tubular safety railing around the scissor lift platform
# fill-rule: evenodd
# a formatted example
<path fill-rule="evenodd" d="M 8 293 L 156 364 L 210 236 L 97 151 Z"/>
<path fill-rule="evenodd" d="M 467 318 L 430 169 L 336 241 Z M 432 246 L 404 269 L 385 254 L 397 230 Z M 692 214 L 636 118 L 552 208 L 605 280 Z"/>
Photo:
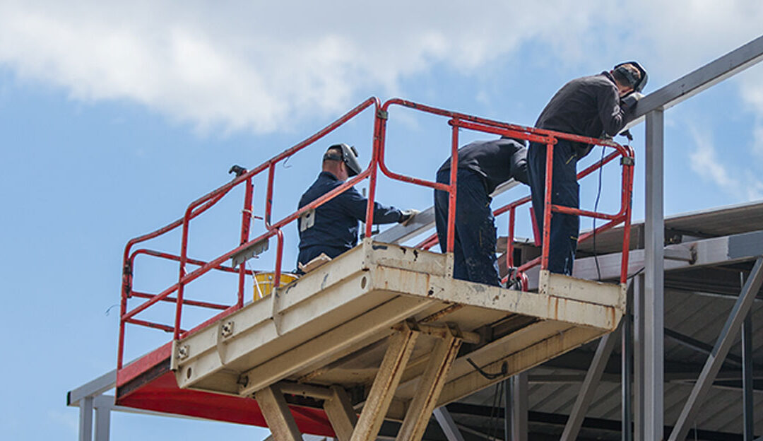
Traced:
<path fill-rule="evenodd" d="M 451 137 L 451 175 L 450 175 L 450 182 L 449 184 L 443 184 L 439 182 L 431 182 L 424 179 L 415 178 L 412 176 L 402 175 L 397 172 L 391 171 L 388 166 L 385 163 L 385 138 L 386 138 L 386 131 L 387 131 L 387 121 L 388 121 L 388 112 L 389 108 L 393 105 L 402 106 L 405 108 L 411 108 L 417 111 L 423 111 L 428 114 L 434 114 L 439 115 L 443 117 L 447 117 L 448 124 L 451 126 L 452 131 L 452 137 Z M 280 221 L 272 221 L 272 199 L 273 199 L 273 192 L 274 192 L 274 181 L 275 181 L 275 166 L 282 161 L 285 161 L 291 156 L 294 156 L 296 153 L 300 152 L 301 150 L 304 150 L 307 146 L 310 146 L 311 144 L 316 143 L 317 140 L 320 140 L 321 138 L 325 137 L 327 134 L 330 134 L 333 132 L 333 130 L 336 130 L 338 127 L 345 124 L 347 121 L 353 119 L 353 117 L 356 117 L 356 115 L 362 113 L 362 111 L 365 111 L 367 108 L 374 108 L 375 111 L 375 117 L 374 117 L 374 128 L 373 128 L 373 138 L 372 138 L 372 157 L 371 161 L 369 163 L 369 166 L 360 172 L 358 175 L 353 176 L 352 179 L 348 179 L 346 182 L 343 182 L 342 185 L 338 186 L 337 188 L 334 188 L 331 192 L 328 192 L 325 195 L 322 195 L 320 198 L 315 199 L 310 204 L 305 205 L 304 207 L 300 208 L 298 211 L 295 211 L 291 214 L 288 214 L 288 216 L 282 218 Z M 297 220 L 302 214 L 306 213 L 307 211 L 314 210 L 321 204 L 325 204 L 327 201 L 330 201 L 332 198 L 335 198 L 337 195 L 340 195 L 342 192 L 346 191 L 346 189 L 350 188 L 353 185 L 356 185 L 358 182 L 362 181 L 363 179 L 369 179 L 369 200 L 366 207 L 366 218 L 365 218 L 365 237 L 370 237 L 372 235 L 372 224 L 373 224 L 373 207 L 374 207 L 374 200 L 375 200 L 375 190 L 376 190 L 376 182 L 377 182 L 377 169 L 380 169 L 381 172 L 388 176 L 390 179 L 398 180 L 401 182 L 409 182 L 415 185 L 421 185 L 428 188 L 433 188 L 436 190 L 442 190 L 449 193 L 449 213 L 448 213 L 448 233 L 447 233 L 447 243 L 446 243 L 446 251 L 452 252 L 454 240 L 455 240 L 455 220 L 456 220 L 456 172 L 458 169 L 458 148 L 459 148 L 459 129 L 468 129 L 468 130 L 475 130 L 480 132 L 485 132 L 489 134 L 497 134 L 497 135 L 505 135 L 508 137 L 515 137 L 519 139 L 524 140 L 530 140 L 537 143 L 545 143 L 547 148 L 547 165 L 546 165 L 546 207 L 544 211 L 544 219 L 546 220 L 544 223 L 544 229 L 542 234 L 542 256 L 539 259 L 540 265 L 542 268 L 546 268 L 548 266 L 548 241 L 549 241 L 549 226 L 550 226 L 550 217 L 552 216 L 552 213 L 554 212 L 562 212 L 562 213 L 571 213 L 571 214 L 579 214 L 584 216 L 591 216 L 591 217 L 598 217 L 598 218 L 604 218 L 607 219 L 608 222 L 602 227 L 597 228 L 596 231 L 604 230 L 607 228 L 614 227 L 616 224 L 620 224 L 623 221 L 626 223 L 626 236 L 624 240 L 623 245 L 623 281 L 626 274 L 626 268 L 627 268 L 627 251 L 628 251 L 628 243 L 629 243 L 629 226 L 630 226 L 630 195 L 632 192 L 632 186 L 633 186 L 633 150 L 630 149 L 629 146 L 620 146 L 620 144 L 613 143 L 607 140 L 597 140 L 593 138 L 588 137 L 578 137 L 575 135 L 569 135 L 569 134 L 561 134 L 557 132 L 553 132 L 550 130 L 541 130 L 536 129 L 534 127 L 523 127 L 518 126 L 514 124 L 507 124 L 500 121 L 492 121 L 486 118 L 481 117 L 475 117 L 468 114 L 461 114 L 458 112 L 452 112 L 452 111 L 446 111 L 439 108 L 433 108 L 427 105 L 420 105 L 418 103 L 415 103 L 413 101 L 405 101 L 402 99 L 394 98 L 389 101 L 386 101 L 384 105 L 380 105 L 380 101 L 378 98 L 369 98 L 365 101 L 363 101 L 361 104 L 356 106 L 356 108 L 353 108 L 351 111 L 344 114 L 342 117 L 337 119 L 336 121 L 333 121 L 333 123 L 327 125 L 327 127 L 324 127 L 324 129 L 318 131 L 316 134 L 312 135 L 311 137 L 308 137 L 306 140 L 302 141 L 301 143 L 296 144 L 295 146 L 292 146 L 288 150 L 285 150 L 284 152 L 274 156 L 272 159 L 269 159 L 265 163 L 260 164 L 259 166 L 256 166 L 254 169 L 251 169 L 249 171 L 245 171 L 238 175 L 235 179 L 233 179 L 231 182 L 228 182 L 225 185 L 222 185 L 221 187 L 215 189 L 214 191 L 208 193 L 207 195 L 202 196 L 201 198 L 198 198 L 197 200 L 193 201 L 191 204 L 188 205 L 188 208 L 185 210 L 185 214 L 183 214 L 183 217 L 178 219 L 175 222 L 172 222 L 172 224 L 166 225 L 166 227 L 159 228 L 159 230 L 153 231 L 152 233 L 147 233 L 143 236 L 136 237 L 134 239 L 131 239 L 127 242 L 127 246 L 125 246 L 124 249 L 124 269 L 123 269 L 123 276 L 122 276 L 122 291 L 121 291 L 121 304 L 120 304 L 120 328 L 119 328 L 119 341 L 118 341 L 118 369 L 121 369 L 123 367 L 124 363 L 124 340 L 125 340 L 125 331 L 126 331 L 126 325 L 127 324 L 135 324 L 139 326 L 144 327 L 152 327 L 159 330 L 165 330 L 167 332 L 172 332 L 172 336 L 174 340 L 179 340 L 181 338 L 184 338 L 185 336 L 188 336 L 189 333 L 194 332 L 195 330 L 201 329 L 201 327 L 207 326 L 208 324 L 213 323 L 215 320 L 219 320 L 221 317 L 226 316 L 227 314 L 231 314 L 233 311 L 237 311 L 241 307 L 243 307 L 243 296 L 244 296 L 244 282 L 246 275 L 253 275 L 255 271 L 246 269 L 246 262 L 242 262 L 238 268 L 234 268 L 233 266 L 224 266 L 222 265 L 223 262 L 227 259 L 230 259 L 231 257 L 237 255 L 237 253 L 241 253 L 245 251 L 246 249 L 250 248 L 251 246 L 255 246 L 257 243 L 262 243 L 263 241 L 269 240 L 271 237 L 276 237 L 277 240 L 277 247 L 275 251 L 275 275 L 273 278 L 273 286 L 278 287 L 281 279 L 281 266 L 282 266 L 282 257 L 283 257 L 283 246 L 284 246 L 284 235 L 282 232 L 282 227 L 284 227 L 286 224 L 291 223 L 292 221 Z M 615 153 L 611 153 L 609 156 L 607 156 L 601 163 L 594 164 L 594 166 L 589 167 L 588 169 L 585 169 L 583 172 L 578 174 L 578 179 L 583 177 L 584 175 L 590 174 L 594 169 L 597 167 L 603 166 L 605 163 L 609 163 L 612 159 L 614 159 L 617 156 L 622 156 L 624 158 L 629 158 L 631 160 L 625 160 L 623 161 L 623 192 L 622 192 L 622 204 L 620 211 L 617 214 L 603 214 L 603 213 L 596 213 L 593 211 L 584 211 L 584 210 L 578 210 L 578 209 L 572 209 L 568 207 L 561 207 L 558 205 L 552 205 L 550 203 L 550 182 L 552 179 L 552 172 L 551 172 L 551 164 L 552 164 L 552 152 L 553 152 L 553 146 L 556 143 L 557 139 L 567 139 L 567 140 L 574 140 L 584 143 L 591 143 L 591 144 L 597 144 L 597 145 L 603 145 L 603 146 L 609 146 L 613 147 L 617 150 Z M 259 175 L 262 172 L 267 171 L 267 189 L 266 189 L 266 196 L 265 196 L 265 214 L 264 214 L 264 224 L 265 224 L 265 232 L 261 233 L 258 237 L 255 237 L 254 239 L 250 239 L 250 225 L 251 220 L 253 217 L 252 213 L 252 207 L 253 207 L 253 177 L 256 175 Z M 195 217 L 198 217 L 200 214 L 204 213 L 204 211 L 207 211 L 209 208 L 214 206 L 214 204 L 217 204 L 218 201 L 221 200 L 225 195 L 227 195 L 233 188 L 237 187 L 238 185 L 244 185 L 244 203 L 243 203 L 243 215 L 241 219 L 241 228 L 240 228 L 240 245 L 231 249 L 227 253 L 224 253 L 221 256 L 218 256 L 217 258 L 206 262 L 203 260 L 198 259 L 191 259 L 188 257 L 188 227 L 190 222 L 195 219 Z M 513 267 L 513 225 L 514 225 L 514 214 L 515 210 L 518 206 L 521 204 L 525 204 L 526 202 L 530 201 L 529 197 L 522 198 L 519 201 L 515 201 L 512 204 L 508 204 L 502 208 L 499 208 L 497 211 L 495 211 L 496 215 L 503 214 L 505 212 L 509 213 L 509 228 L 510 228 L 510 237 L 508 240 L 508 249 L 509 253 L 507 255 L 507 266 Z M 132 251 L 133 246 L 135 246 L 137 243 L 143 243 L 147 240 L 155 239 L 156 237 L 162 236 L 163 234 L 169 233 L 172 230 L 175 230 L 179 227 L 182 227 L 182 240 L 181 240 L 181 246 L 180 246 L 180 254 L 174 255 L 170 253 L 163 253 L 159 251 L 154 251 L 150 249 L 137 249 L 135 251 Z M 584 235 L 585 237 L 581 237 L 581 240 L 584 240 L 587 237 L 590 237 L 590 233 L 588 235 Z M 418 246 L 429 248 L 430 246 L 433 246 L 437 243 L 437 237 L 436 235 L 433 235 L 431 237 L 428 237 L 427 240 L 424 240 L 422 243 L 420 243 Z M 179 275 L 178 275 L 178 282 L 176 282 L 174 285 L 169 286 L 169 288 L 166 288 L 164 291 L 161 291 L 159 294 L 151 295 L 144 292 L 138 292 L 134 291 L 132 289 L 133 286 L 133 277 L 134 277 L 134 265 L 135 265 L 135 259 L 137 256 L 140 255 L 146 255 L 146 256 L 153 256 L 155 258 L 159 259 L 166 259 L 170 261 L 179 262 Z M 522 279 L 523 278 L 523 286 L 526 289 L 526 276 L 523 275 L 523 271 L 526 268 L 529 268 L 530 264 L 537 265 L 538 262 L 527 262 L 523 266 L 519 267 L 519 273 L 517 273 L 517 277 Z M 198 268 L 194 269 L 191 272 L 187 271 L 188 265 L 198 266 Z M 214 304 L 210 302 L 204 302 L 204 301 L 193 301 L 185 299 L 185 285 L 188 285 L 189 283 L 193 282 L 195 279 L 201 277 L 201 275 L 206 274 L 207 272 L 210 272 L 211 270 L 217 270 L 220 272 L 227 272 L 227 273 L 237 273 L 238 274 L 238 291 L 237 291 L 237 301 L 234 304 L 226 305 L 226 304 Z M 175 294 L 176 293 L 176 294 Z M 175 294 L 175 297 L 171 297 L 172 294 Z M 127 311 L 127 302 L 130 298 L 143 298 L 147 299 L 143 303 L 139 304 L 137 307 L 134 307 L 130 311 Z M 137 314 L 140 314 L 143 311 L 146 311 L 147 308 L 151 307 L 153 304 L 157 304 L 160 301 L 162 302 L 174 302 L 175 303 L 175 317 L 174 317 L 174 324 L 172 326 L 167 324 L 157 324 L 146 320 L 140 320 L 136 318 Z M 181 328 L 181 321 L 182 321 L 182 310 L 183 306 L 195 306 L 195 307 L 206 307 L 214 310 L 221 311 L 214 315 L 214 317 L 209 318 L 208 320 L 204 320 L 204 323 L 198 324 L 196 327 L 193 327 L 190 330 L 183 330 Z"/>

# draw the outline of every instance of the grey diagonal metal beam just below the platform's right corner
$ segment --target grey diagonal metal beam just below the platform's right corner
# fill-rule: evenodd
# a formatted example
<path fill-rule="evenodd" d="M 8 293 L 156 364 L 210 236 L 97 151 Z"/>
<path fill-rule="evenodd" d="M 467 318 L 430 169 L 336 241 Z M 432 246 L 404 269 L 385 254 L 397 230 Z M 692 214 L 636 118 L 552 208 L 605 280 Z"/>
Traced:
<path fill-rule="evenodd" d="M 561 438 L 559 438 L 561 441 L 574 441 L 578 438 L 578 433 L 580 433 L 580 428 L 583 425 L 583 419 L 585 414 L 588 413 L 588 406 L 594 400 L 594 394 L 596 394 L 596 389 L 599 386 L 601 375 L 604 374 L 604 368 L 607 366 L 607 361 L 609 361 L 612 349 L 614 349 L 617 341 L 617 331 L 608 333 L 599 340 L 599 346 L 597 346 L 594 353 L 594 359 L 591 360 L 591 368 L 588 369 L 588 373 L 585 375 L 583 384 L 578 392 L 578 398 L 575 399 L 569 420 L 565 424 L 565 430 L 562 432 Z"/>

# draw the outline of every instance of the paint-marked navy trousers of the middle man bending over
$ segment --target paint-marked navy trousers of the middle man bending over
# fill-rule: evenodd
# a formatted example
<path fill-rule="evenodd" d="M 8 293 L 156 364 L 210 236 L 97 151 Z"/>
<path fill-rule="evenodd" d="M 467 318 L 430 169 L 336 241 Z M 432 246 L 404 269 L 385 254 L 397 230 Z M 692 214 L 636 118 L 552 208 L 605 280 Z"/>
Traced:
<path fill-rule="evenodd" d="M 450 170 L 437 173 L 437 182 L 448 184 Z M 456 182 L 456 240 L 453 246 L 453 278 L 500 286 L 495 258 L 495 218 L 491 198 L 480 175 L 458 170 Z M 448 192 L 435 190 L 435 225 L 439 247 L 446 251 L 448 237 Z"/>

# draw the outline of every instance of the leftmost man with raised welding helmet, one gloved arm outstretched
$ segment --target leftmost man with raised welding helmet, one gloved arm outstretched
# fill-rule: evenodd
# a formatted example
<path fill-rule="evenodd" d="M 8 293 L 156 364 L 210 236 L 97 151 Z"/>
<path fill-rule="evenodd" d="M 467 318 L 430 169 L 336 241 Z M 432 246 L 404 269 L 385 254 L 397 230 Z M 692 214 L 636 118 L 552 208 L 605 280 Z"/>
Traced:
<path fill-rule="evenodd" d="M 355 147 L 347 144 L 330 146 L 323 157 L 322 171 L 300 198 L 299 208 L 339 187 L 349 177 L 358 175 L 362 170 L 357 156 Z M 368 199 L 350 187 L 315 208 L 311 219 L 303 215 L 299 220 L 298 268 L 299 264 L 305 265 L 321 253 L 333 259 L 356 246 L 358 221 L 365 221 L 367 204 Z M 417 213 L 416 210 L 401 211 L 375 202 L 374 224 L 407 224 Z"/>

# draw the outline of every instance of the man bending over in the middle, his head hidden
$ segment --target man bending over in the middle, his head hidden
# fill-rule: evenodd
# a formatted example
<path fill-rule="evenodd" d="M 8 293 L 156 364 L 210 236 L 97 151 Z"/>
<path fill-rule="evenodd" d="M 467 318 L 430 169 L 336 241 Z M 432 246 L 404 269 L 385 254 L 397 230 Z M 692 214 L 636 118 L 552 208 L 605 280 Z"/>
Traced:
<path fill-rule="evenodd" d="M 500 286 L 495 219 L 491 193 L 509 179 L 527 183 L 527 149 L 523 140 L 502 137 L 476 141 L 459 149 L 456 171 L 456 237 L 453 277 Z M 450 183 L 448 158 L 437 170 L 436 181 Z M 446 252 L 449 193 L 434 192 L 435 227 L 439 247 Z"/>

